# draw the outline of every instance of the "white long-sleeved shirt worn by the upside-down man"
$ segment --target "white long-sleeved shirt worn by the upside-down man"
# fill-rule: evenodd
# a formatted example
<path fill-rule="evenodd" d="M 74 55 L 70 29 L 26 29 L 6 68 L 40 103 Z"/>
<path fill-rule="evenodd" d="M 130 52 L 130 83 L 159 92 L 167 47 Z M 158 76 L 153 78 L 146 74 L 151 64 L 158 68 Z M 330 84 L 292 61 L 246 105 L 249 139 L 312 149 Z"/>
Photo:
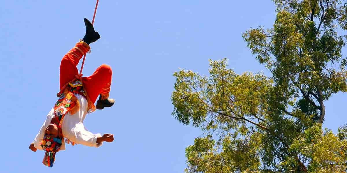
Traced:
<path fill-rule="evenodd" d="M 79 101 L 80 108 L 79 110 L 71 115 L 70 112 L 66 113 L 64 116 L 63 122 L 61 124 L 61 130 L 63 136 L 70 139 L 76 144 L 82 144 L 91 147 L 100 147 L 101 143 L 96 143 L 96 138 L 101 137 L 100 134 L 93 134 L 89 132 L 83 125 L 83 121 L 87 115 L 87 100 L 80 94 L 75 94 L 77 100 Z M 44 131 L 47 126 L 51 123 L 52 118 L 54 118 L 54 107 L 48 113 L 45 122 L 43 123 L 39 133 L 34 139 L 34 146 L 37 149 L 43 150 L 40 143 L 43 140 Z M 65 150 L 65 142 L 62 140 L 60 150 Z"/>

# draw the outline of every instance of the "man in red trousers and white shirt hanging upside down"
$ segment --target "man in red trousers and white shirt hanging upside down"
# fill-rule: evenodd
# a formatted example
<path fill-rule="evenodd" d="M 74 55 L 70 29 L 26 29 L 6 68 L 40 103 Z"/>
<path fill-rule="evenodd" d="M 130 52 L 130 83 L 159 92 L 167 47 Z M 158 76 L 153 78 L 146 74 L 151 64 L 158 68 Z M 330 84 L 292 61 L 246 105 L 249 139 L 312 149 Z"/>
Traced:
<path fill-rule="evenodd" d="M 78 75 L 77 64 L 82 56 L 90 52 L 89 44 L 100 38 L 93 25 L 84 19 L 86 33 L 61 60 L 60 92 L 58 101 L 48 113 L 39 133 L 29 148 L 45 150 L 43 164 L 52 167 L 56 152 L 65 150 L 65 143 L 82 144 L 99 147 L 102 142 L 112 142 L 113 134 L 93 134 L 83 125 L 87 113 L 95 109 L 111 107 L 113 99 L 109 99 L 112 70 L 108 65 L 101 65 L 89 77 Z M 94 103 L 100 95 L 96 106 Z"/>

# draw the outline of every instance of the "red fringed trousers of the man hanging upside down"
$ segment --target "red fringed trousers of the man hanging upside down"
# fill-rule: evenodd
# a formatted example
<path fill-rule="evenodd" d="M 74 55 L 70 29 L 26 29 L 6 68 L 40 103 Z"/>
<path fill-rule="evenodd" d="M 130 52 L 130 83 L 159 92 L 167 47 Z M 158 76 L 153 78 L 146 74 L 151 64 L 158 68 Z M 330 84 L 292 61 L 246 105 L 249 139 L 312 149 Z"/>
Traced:
<path fill-rule="evenodd" d="M 90 47 L 83 41 L 78 42 L 61 60 L 60 63 L 60 89 L 78 75 L 77 64 L 89 51 Z M 102 64 L 88 77 L 82 78 L 84 90 L 90 101 L 94 104 L 101 94 L 102 98 L 108 98 L 112 79 L 112 69 L 109 65 Z"/>

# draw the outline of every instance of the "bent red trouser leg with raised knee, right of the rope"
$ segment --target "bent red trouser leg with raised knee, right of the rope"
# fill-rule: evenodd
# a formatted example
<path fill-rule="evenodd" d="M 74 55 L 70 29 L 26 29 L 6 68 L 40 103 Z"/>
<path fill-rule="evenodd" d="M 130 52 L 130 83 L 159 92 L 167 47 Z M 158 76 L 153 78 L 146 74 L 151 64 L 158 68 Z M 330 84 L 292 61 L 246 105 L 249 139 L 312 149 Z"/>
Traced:
<path fill-rule="evenodd" d="M 96 98 L 101 94 L 101 99 L 105 100 L 109 96 L 112 80 L 112 69 L 109 65 L 102 64 L 89 77 L 83 77 L 82 82 L 90 101 L 95 103 Z"/>

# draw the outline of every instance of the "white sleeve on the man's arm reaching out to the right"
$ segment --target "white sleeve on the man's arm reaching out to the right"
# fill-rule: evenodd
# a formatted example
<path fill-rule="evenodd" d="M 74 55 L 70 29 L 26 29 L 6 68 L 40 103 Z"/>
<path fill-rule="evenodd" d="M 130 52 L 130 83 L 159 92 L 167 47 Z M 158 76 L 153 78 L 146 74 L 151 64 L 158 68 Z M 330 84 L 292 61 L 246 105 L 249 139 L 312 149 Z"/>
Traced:
<path fill-rule="evenodd" d="M 74 141 L 76 144 L 82 144 L 90 147 L 100 147 L 101 143 L 96 143 L 96 138 L 101 137 L 101 135 L 93 134 L 88 131 L 82 122 L 78 123 L 71 129 L 71 132 L 67 136 L 70 140 Z"/>

